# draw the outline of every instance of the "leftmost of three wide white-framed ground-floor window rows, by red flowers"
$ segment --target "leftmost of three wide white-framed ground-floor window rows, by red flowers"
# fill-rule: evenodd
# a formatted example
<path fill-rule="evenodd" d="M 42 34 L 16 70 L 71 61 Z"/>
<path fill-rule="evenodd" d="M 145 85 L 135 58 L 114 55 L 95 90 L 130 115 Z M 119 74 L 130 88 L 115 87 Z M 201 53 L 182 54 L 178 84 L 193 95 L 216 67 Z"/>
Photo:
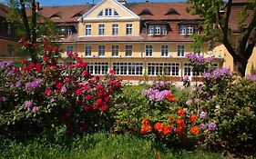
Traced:
<path fill-rule="evenodd" d="M 91 75 L 106 75 L 108 63 L 87 63 L 87 70 Z"/>

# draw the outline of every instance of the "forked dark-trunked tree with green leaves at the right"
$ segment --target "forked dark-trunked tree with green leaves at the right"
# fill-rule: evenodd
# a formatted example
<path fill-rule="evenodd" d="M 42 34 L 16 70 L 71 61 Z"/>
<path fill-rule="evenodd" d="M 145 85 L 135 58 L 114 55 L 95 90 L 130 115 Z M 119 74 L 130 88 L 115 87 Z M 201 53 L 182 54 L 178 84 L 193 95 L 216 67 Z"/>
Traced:
<path fill-rule="evenodd" d="M 235 0 L 188 0 L 188 12 L 204 18 L 202 35 L 193 35 L 195 41 L 222 43 L 233 57 L 234 71 L 245 75 L 248 60 L 256 43 L 256 0 L 243 0 L 241 13 L 237 15 L 240 34 L 232 34 L 230 15 Z"/>

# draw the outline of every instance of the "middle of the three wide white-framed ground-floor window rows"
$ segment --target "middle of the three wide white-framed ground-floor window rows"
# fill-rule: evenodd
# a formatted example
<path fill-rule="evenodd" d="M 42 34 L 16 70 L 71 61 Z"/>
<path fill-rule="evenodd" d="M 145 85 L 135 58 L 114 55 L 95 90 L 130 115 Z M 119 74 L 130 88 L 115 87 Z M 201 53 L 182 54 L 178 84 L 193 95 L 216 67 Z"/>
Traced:
<path fill-rule="evenodd" d="M 143 75 L 143 63 L 113 63 L 117 75 Z"/>

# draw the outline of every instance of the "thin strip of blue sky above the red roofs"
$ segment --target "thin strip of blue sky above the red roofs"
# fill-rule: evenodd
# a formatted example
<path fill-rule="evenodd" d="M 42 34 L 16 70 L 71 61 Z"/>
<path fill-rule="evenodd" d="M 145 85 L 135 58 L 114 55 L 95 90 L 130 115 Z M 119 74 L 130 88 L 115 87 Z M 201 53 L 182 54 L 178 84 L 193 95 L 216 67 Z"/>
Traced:
<path fill-rule="evenodd" d="M 86 5 L 87 3 L 92 4 L 93 1 L 97 4 L 100 0 L 37 0 L 42 6 L 49 5 Z M 128 3 L 145 2 L 146 0 L 127 0 Z M 149 2 L 184 2 L 186 0 L 148 0 Z M 5 0 L 0 0 L 5 2 Z"/>

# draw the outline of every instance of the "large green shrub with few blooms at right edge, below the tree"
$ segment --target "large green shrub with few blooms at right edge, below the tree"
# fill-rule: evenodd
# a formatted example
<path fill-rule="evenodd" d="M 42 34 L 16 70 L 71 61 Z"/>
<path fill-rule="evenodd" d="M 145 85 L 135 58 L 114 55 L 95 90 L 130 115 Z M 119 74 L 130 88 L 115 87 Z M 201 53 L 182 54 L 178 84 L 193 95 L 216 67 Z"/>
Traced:
<path fill-rule="evenodd" d="M 204 109 L 218 125 L 207 143 L 231 152 L 255 152 L 256 144 L 256 82 L 234 77 L 225 91 L 205 101 Z"/>

